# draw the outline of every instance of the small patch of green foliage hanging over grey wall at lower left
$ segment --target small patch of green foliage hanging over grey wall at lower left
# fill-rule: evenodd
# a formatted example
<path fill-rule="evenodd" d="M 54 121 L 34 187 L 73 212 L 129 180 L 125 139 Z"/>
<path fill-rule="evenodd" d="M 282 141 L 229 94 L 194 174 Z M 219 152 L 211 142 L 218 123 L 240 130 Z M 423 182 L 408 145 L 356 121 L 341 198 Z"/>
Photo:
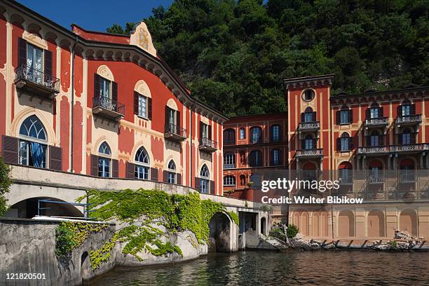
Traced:
<path fill-rule="evenodd" d="M 66 256 L 83 244 L 90 233 L 107 228 L 107 224 L 88 224 L 86 222 L 60 222 L 55 229 L 55 254 Z"/>

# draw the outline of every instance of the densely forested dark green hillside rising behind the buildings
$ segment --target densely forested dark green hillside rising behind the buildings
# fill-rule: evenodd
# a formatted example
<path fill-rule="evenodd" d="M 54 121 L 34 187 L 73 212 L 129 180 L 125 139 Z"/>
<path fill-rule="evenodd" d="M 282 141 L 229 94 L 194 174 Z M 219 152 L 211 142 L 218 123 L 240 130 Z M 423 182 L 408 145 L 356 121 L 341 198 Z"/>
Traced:
<path fill-rule="evenodd" d="M 334 73 L 334 93 L 428 85 L 428 7 L 429 0 L 176 0 L 144 21 L 193 96 L 235 116 L 285 110 L 282 80 L 297 76 Z"/>

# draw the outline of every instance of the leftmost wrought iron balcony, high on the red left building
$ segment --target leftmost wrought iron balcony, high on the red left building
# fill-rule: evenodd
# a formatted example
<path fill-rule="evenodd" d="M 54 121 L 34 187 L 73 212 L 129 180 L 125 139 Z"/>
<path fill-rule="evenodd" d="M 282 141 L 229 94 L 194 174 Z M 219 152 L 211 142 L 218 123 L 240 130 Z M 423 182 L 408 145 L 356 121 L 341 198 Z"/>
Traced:
<path fill-rule="evenodd" d="M 60 92 L 59 79 L 26 64 L 15 69 L 15 86 L 50 99 Z"/>

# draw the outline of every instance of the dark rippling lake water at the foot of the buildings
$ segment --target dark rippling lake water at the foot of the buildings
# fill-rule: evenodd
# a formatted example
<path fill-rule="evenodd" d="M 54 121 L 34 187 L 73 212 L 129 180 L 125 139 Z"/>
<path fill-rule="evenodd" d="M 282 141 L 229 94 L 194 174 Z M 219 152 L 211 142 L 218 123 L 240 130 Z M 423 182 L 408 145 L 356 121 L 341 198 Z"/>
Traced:
<path fill-rule="evenodd" d="M 174 265 L 115 268 L 90 285 L 429 285 L 429 253 L 216 253 Z"/>

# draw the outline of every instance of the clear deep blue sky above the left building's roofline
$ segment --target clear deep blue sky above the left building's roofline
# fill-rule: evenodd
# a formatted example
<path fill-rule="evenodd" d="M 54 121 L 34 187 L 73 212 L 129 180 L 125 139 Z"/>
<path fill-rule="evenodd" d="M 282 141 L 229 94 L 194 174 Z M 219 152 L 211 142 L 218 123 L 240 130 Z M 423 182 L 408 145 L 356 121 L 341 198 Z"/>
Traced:
<path fill-rule="evenodd" d="M 113 24 L 139 22 L 151 15 L 152 8 L 168 8 L 172 0 L 18 0 L 20 4 L 70 29 L 75 23 L 83 29 L 106 32 Z"/>

